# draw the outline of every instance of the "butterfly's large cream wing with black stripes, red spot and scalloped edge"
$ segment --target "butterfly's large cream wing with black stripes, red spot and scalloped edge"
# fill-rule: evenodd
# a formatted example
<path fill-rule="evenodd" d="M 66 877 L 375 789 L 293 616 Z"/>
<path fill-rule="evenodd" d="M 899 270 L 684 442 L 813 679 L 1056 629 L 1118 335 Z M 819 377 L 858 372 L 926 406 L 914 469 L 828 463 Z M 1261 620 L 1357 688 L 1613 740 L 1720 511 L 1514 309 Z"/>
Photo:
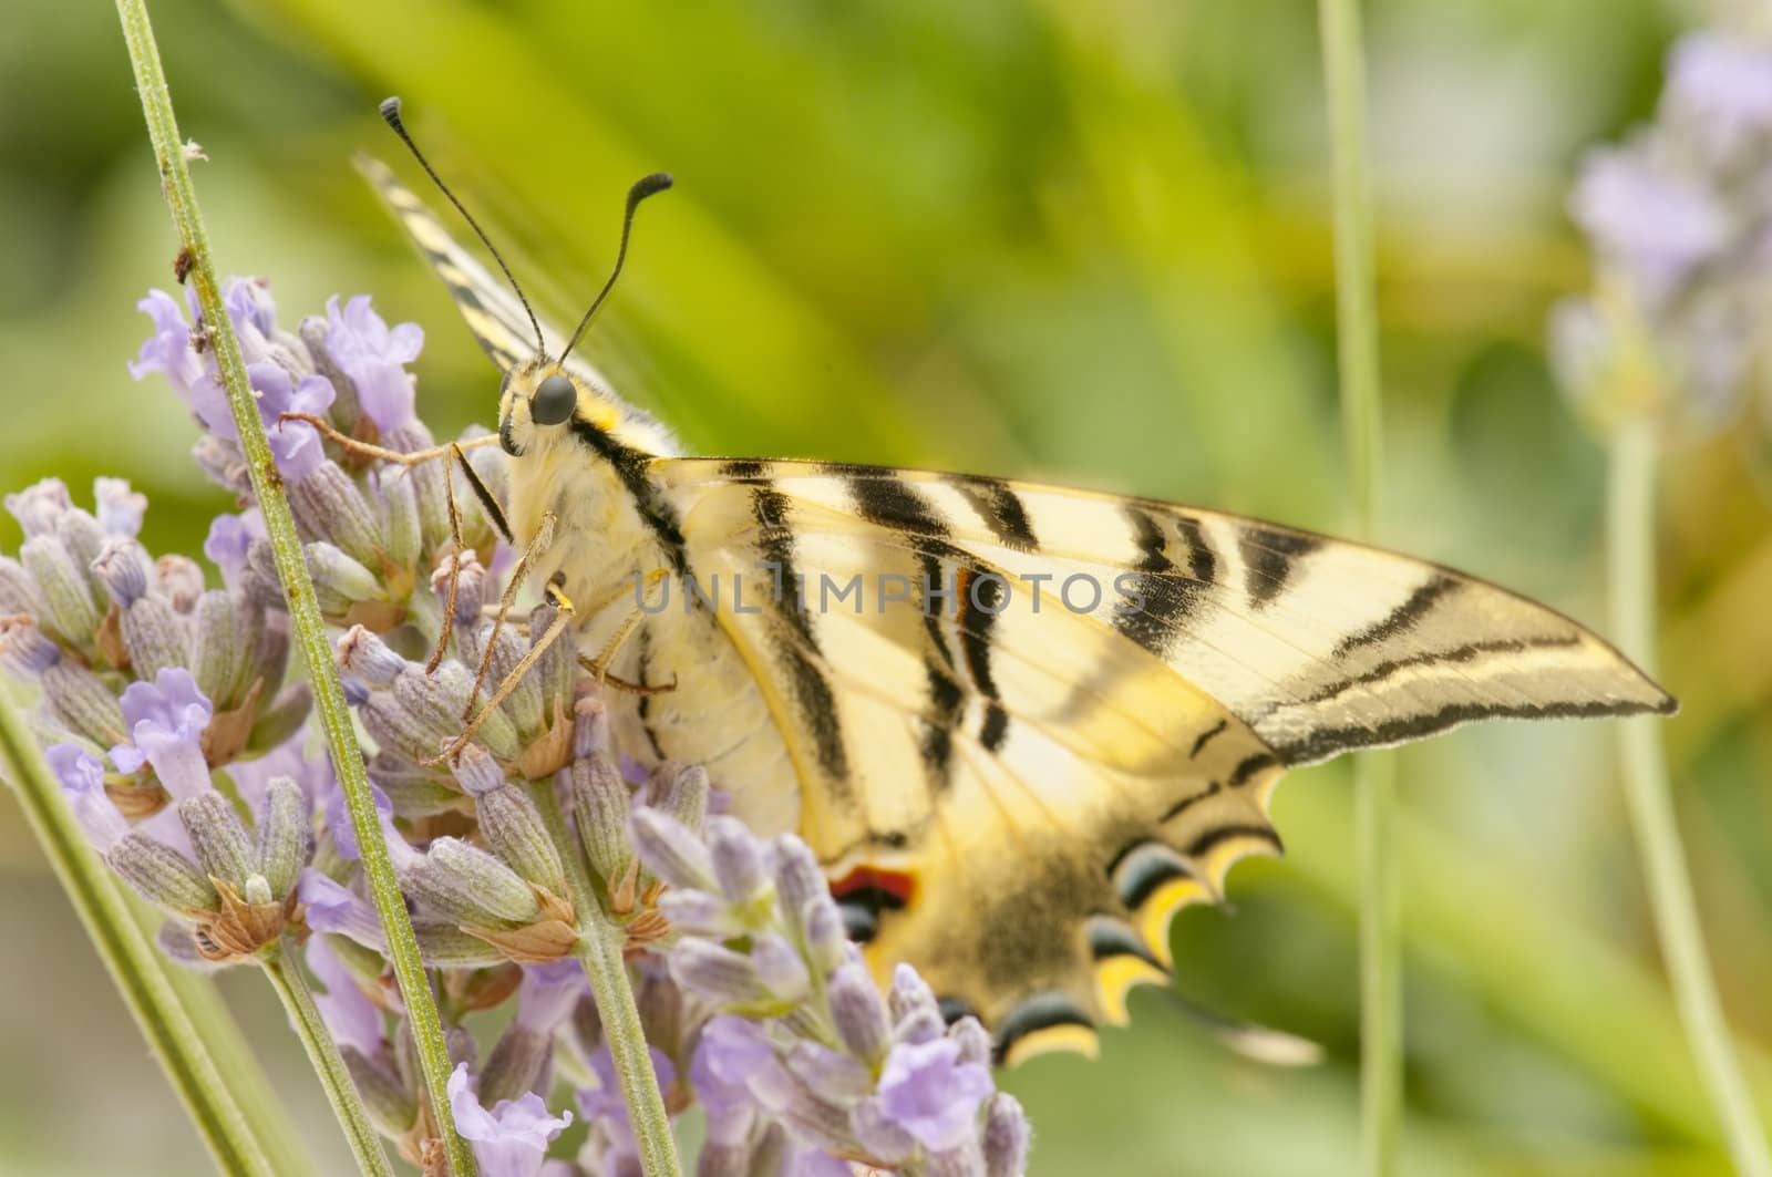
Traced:
<path fill-rule="evenodd" d="M 1673 707 L 1542 604 L 1308 532 L 872 466 L 652 475 L 696 576 L 785 588 L 719 617 L 875 966 L 916 964 L 1010 1058 L 1123 1021 L 1127 987 L 1166 975 L 1173 913 L 1279 851 L 1285 768 L 1490 716 Z"/>

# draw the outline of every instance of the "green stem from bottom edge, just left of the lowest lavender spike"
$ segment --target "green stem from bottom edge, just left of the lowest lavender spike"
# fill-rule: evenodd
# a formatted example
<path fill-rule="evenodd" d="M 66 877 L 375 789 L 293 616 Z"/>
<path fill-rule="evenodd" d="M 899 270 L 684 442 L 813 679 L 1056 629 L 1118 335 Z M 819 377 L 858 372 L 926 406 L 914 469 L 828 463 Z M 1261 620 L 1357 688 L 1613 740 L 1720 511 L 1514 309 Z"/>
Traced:
<path fill-rule="evenodd" d="M 533 783 L 530 798 L 542 814 L 548 837 L 553 838 L 565 861 L 572 908 L 578 913 L 578 961 L 585 966 L 590 993 L 597 1002 L 597 1016 L 602 1019 L 602 1037 L 610 1042 L 610 1060 L 615 1064 L 622 1101 L 627 1104 L 627 1119 L 633 1120 L 634 1142 L 640 1145 L 640 1168 L 647 1177 L 677 1177 L 682 1172 L 677 1161 L 677 1140 L 670 1131 L 664 1095 L 652 1072 L 652 1053 L 647 1049 L 640 1007 L 634 1005 L 627 963 L 622 959 L 626 934 L 597 902 L 590 872 L 585 869 L 585 856 L 578 840 L 565 828 L 560 799 L 553 787 L 546 782 Z"/>

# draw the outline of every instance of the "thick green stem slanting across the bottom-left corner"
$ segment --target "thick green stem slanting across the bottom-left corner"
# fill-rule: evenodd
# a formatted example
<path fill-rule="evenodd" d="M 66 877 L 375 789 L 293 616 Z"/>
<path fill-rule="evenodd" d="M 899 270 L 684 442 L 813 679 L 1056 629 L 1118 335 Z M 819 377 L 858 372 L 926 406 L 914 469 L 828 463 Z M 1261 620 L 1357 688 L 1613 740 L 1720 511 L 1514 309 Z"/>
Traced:
<path fill-rule="evenodd" d="M 234 1088 L 216 1065 L 190 1010 L 179 1003 L 154 945 L 129 915 L 110 870 L 87 842 L 62 798 L 60 783 L 23 716 L 0 691 L 0 762 L 12 782 L 32 833 L 43 846 L 99 959 L 110 970 L 142 1037 L 172 1081 L 198 1136 L 223 1173 L 275 1177 Z"/>

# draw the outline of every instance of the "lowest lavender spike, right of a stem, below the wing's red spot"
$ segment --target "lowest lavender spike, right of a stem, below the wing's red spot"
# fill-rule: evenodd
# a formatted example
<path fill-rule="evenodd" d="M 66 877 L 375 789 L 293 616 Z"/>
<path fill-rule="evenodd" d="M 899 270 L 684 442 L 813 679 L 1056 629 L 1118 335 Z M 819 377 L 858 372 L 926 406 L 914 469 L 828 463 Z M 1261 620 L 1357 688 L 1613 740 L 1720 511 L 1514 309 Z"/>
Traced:
<path fill-rule="evenodd" d="M 881 996 L 804 842 L 762 842 L 732 817 L 696 837 L 654 808 L 629 824 L 641 863 L 670 885 L 659 911 L 677 934 L 659 952 L 672 977 L 728 1010 L 702 1028 L 691 1060 L 721 1165 L 742 1172 L 769 1124 L 831 1158 L 907 1173 L 1022 1165 L 1026 1131 L 1019 1106 L 994 1094 L 989 1035 L 971 1017 L 944 1026 L 907 964 L 891 1000 Z"/>

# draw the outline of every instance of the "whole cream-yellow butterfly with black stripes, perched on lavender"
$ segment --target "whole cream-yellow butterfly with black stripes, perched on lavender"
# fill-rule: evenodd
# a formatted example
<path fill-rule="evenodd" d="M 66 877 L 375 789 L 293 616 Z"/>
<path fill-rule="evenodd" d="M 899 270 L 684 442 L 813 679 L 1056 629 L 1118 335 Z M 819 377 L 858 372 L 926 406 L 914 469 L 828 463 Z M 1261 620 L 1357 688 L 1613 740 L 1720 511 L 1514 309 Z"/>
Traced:
<path fill-rule="evenodd" d="M 797 831 L 874 970 L 914 964 L 1008 1064 L 1093 1053 L 1127 991 L 1170 977 L 1171 916 L 1279 853 L 1288 768 L 1469 720 L 1675 709 L 1561 613 L 1377 548 L 1006 479 L 684 456 L 363 170 L 501 372 L 516 542 L 546 528 L 533 573 L 615 603 L 576 638 L 631 686 L 608 698 L 618 748 L 703 764 L 755 830 Z M 666 181 L 647 183 L 629 225 Z"/>

